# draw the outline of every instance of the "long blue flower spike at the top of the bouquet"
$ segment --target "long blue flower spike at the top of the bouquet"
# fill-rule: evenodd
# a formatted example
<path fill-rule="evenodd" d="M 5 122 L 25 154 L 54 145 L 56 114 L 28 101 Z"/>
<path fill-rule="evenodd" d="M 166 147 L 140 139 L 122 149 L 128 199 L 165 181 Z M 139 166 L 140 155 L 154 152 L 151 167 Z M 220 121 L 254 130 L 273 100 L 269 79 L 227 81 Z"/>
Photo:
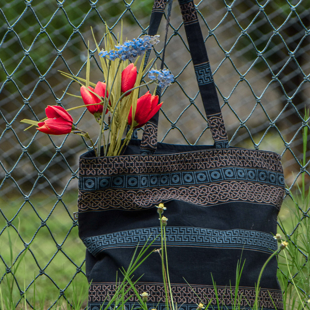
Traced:
<path fill-rule="evenodd" d="M 110 60 L 120 58 L 122 60 L 133 60 L 135 57 L 142 55 L 144 51 L 152 48 L 159 42 L 159 35 L 140 37 L 131 41 L 125 41 L 124 44 L 115 45 L 115 49 L 110 51 L 101 51 L 100 57 L 108 57 Z"/>

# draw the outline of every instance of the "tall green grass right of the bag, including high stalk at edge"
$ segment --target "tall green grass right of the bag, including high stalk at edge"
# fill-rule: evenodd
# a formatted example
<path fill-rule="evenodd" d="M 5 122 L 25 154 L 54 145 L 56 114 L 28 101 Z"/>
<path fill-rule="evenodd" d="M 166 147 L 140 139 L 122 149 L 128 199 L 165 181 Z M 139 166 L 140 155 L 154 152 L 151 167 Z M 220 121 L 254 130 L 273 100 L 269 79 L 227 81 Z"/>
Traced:
<path fill-rule="evenodd" d="M 304 121 L 308 119 L 309 110 L 305 110 Z M 308 126 L 304 126 L 303 159 L 300 161 L 304 169 L 309 165 L 307 145 Z M 289 210 L 286 222 L 279 217 L 281 233 L 288 241 L 287 255 L 279 255 L 278 259 L 278 278 L 284 292 L 285 310 L 310 309 L 310 188 L 307 188 L 306 177 L 306 172 L 302 172 L 296 193 L 289 190 L 284 202 L 287 205 L 283 206 Z"/>

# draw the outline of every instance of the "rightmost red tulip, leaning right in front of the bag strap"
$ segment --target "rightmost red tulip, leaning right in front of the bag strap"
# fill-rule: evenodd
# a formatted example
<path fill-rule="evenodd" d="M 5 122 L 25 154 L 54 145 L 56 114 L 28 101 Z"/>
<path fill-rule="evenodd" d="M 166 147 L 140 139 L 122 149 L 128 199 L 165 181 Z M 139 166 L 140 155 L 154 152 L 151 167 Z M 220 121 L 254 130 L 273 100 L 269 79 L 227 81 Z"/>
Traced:
<path fill-rule="evenodd" d="M 135 112 L 135 121 L 138 123 L 135 128 L 142 127 L 148 120 L 150 120 L 162 106 L 162 103 L 158 104 L 158 96 L 152 96 L 148 91 L 145 95 L 138 98 L 137 108 Z M 132 108 L 128 115 L 128 124 L 132 122 Z"/>

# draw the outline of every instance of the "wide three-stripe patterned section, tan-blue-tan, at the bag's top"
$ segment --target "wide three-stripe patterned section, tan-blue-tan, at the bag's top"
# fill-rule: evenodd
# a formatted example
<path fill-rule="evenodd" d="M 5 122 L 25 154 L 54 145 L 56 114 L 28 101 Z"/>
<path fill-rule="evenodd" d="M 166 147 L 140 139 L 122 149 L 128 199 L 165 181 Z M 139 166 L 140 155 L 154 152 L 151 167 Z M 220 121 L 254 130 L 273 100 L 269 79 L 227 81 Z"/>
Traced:
<path fill-rule="evenodd" d="M 225 148 L 86 156 L 80 157 L 79 166 L 80 212 L 141 210 L 171 199 L 200 206 L 246 201 L 280 209 L 284 196 L 280 156 L 272 152 Z"/>

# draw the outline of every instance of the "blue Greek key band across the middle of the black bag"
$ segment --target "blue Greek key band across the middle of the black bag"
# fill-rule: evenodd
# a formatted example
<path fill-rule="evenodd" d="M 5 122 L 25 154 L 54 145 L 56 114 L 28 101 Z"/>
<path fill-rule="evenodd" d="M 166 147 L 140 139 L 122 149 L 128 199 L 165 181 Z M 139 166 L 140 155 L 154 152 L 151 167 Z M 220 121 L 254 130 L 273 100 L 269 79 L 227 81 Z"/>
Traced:
<path fill-rule="evenodd" d="M 83 240 L 84 245 L 94 256 L 105 249 L 132 248 L 138 244 L 153 242 L 153 246 L 160 246 L 158 237 L 160 227 L 137 228 L 120 232 L 108 233 L 100 236 L 88 237 Z M 277 250 L 277 241 L 271 234 L 265 232 L 232 229 L 217 230 L 197 227 L 166 227 L 167 246 L 203 247 L 221 249 L 245 249 L 264 253 Z"/>

